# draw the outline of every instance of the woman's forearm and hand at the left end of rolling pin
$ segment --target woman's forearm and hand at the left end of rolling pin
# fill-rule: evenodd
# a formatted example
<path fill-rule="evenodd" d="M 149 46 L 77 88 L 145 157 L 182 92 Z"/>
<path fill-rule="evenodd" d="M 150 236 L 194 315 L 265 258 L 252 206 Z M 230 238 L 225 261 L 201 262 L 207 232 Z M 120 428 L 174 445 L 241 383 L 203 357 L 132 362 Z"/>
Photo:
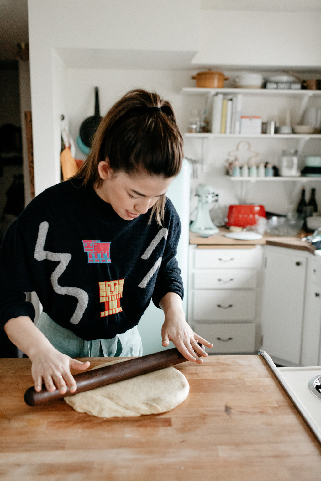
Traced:
<path fill-rule="evenodd" d="M 76 382 L 70 368 L 87 369 L 89 361 L 83 363 L 57 351 L 28 316 L 10 319 L 4 325 L 4 330 L 10 341 L 31 360 L 31 373 L 37 392 L 41 391 L 42 380 L 49 392 L 55 391 L 57 387 L 64 394 L 66 386 L 70 392 L 76 391 Z"/>

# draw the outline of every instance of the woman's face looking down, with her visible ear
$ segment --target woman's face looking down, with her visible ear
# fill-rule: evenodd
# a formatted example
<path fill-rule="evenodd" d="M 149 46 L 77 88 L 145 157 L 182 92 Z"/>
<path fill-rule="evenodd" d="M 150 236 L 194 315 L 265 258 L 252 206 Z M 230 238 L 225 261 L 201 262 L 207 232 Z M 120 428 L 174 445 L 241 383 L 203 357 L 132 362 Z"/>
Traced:
<path fill-rule="evenodd" d="M 145 172 L 137 175 L 128 175 L 123 171 L 113 172 L 105 161 L 99 163 L 98 171 L 103 183 L 94 188 L 96 193 L 125 220 L 146 214 L 159 197 L 167 192 L 174 179 Z"/>

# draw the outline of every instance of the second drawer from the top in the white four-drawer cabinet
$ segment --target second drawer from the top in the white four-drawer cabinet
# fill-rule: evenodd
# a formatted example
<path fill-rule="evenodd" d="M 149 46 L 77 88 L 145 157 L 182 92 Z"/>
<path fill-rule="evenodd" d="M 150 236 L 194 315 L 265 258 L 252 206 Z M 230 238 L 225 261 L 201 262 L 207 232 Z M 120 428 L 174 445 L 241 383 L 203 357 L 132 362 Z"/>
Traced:
<path fill-rule="evenodd" d="M 194 289 L 255 289 L 255 269 L 197 269 Z"/>

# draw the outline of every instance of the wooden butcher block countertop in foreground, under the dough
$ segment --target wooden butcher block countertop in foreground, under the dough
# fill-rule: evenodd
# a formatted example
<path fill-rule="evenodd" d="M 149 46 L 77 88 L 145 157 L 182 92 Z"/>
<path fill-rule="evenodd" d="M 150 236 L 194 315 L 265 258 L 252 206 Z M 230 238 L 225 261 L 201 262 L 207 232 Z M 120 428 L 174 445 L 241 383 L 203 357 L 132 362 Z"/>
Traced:
<path fill-rule="evenodd" d="M 29 359 L 0 363 L 1 480 L 321 480 L 321 446 L 259 355 L 177 365 L 190 383 L 181 405 L 112 419 L 64 400 L 27 406 Z"/>

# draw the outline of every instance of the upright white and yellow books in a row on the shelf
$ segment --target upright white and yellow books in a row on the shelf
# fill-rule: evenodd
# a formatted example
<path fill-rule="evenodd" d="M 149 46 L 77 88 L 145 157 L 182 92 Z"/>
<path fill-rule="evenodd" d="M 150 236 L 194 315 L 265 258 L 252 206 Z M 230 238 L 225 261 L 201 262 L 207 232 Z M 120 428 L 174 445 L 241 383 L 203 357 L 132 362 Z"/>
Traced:
<path fill-rule="evenodd" d="M 217 93 L 213 98 L 212 134 L 239 134 L 241 115 L 242 94 Z"/>

